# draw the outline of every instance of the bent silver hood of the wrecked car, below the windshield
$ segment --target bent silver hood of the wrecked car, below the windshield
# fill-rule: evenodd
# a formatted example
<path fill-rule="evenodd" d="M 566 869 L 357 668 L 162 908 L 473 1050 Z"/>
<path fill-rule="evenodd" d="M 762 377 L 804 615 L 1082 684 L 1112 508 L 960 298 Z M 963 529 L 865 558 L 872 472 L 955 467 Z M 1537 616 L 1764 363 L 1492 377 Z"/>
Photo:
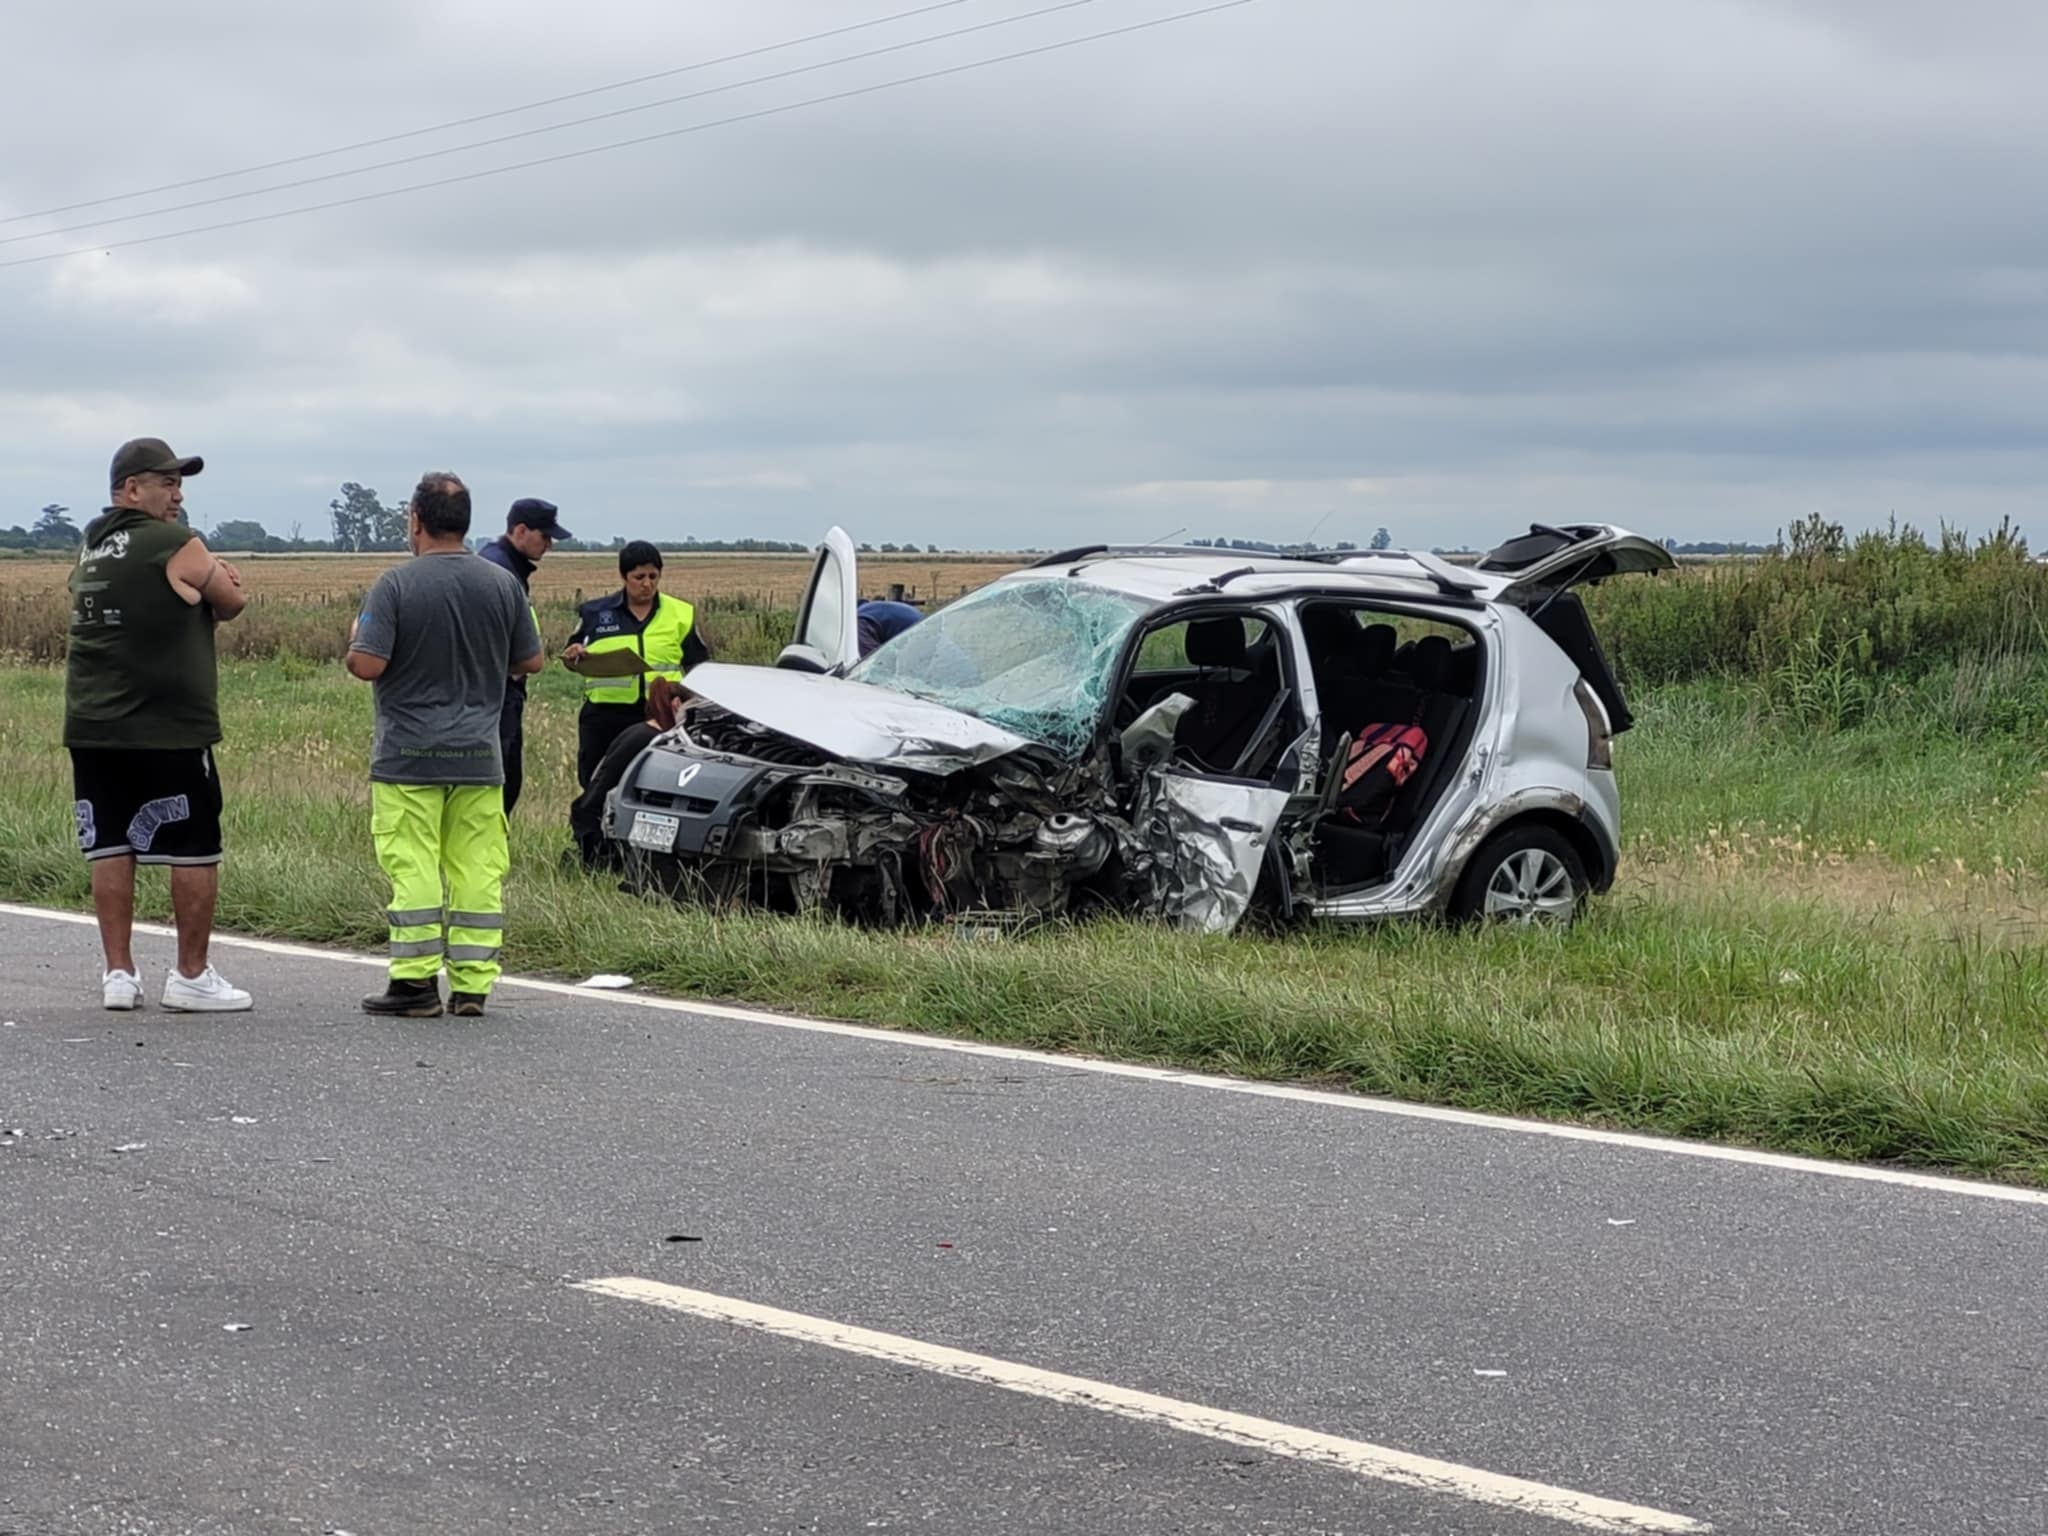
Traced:
<path fill-rule="evenodd" d="M 846 762 L 950 774 L 1032 745 L 956 709 L 815 672 L 707 662 L 684 686 Z"/>

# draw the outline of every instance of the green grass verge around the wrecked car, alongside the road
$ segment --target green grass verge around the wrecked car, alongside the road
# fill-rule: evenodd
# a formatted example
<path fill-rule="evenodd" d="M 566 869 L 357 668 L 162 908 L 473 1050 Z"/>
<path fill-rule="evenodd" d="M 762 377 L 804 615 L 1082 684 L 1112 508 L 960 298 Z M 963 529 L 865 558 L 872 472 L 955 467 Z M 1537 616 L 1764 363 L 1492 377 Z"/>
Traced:
<path fill-rule="evenodd" d="M 766 633 L 766 631 L 764 631 Z M 1389 924 L 987 942 L 715 915 L 563 872 L 573 678 L 528 713 L 508 961 L 698 997 L 2048 1184 L 2038 739 L 1872 721 L 1812 737 L 1749 684 L 1647 694 L 1618 748 L 1622 885 L 1569 934 Z M 0 895 L 88 905 L 61 676 L 0 670 Z M 377 948 L 369 690 L 223 668 L 221 926 Z M 1956 860 L 1962 860 L 1960 868 Z M 162 883 L 143 909 L 162 918 Z M 82 979 L 84 985 L 84 979 Z"/>

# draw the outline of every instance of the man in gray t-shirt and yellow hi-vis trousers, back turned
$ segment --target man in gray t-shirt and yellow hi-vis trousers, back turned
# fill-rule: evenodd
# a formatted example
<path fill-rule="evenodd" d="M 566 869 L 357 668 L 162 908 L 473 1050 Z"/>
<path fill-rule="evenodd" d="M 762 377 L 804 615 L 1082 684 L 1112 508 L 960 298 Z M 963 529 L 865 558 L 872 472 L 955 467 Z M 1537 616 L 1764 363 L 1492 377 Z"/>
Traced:
<path fill-rule="evenodd" d="M 406 508 L 414 559 L 377 578 L 348 633 L 348 670 L 375 688 L 371 840 L 391 881 L 391 985 L 362 1012 L 477 1016 L 504 940 L 506 680 L 541 670 L 541 637 L 512 575 L 463 547 L 469 487 L 420 479 Z"/>

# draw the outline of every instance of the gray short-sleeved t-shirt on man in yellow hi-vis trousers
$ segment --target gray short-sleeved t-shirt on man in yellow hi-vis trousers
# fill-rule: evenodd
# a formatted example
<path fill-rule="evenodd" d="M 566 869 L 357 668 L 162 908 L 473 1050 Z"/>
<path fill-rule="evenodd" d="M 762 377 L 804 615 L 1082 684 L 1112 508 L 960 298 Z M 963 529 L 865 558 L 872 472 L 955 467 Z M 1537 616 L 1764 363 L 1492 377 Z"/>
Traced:
<path fill-rule="evenodd" d="M 541 649 L 518 582 L 469 551 L 414 555 L 377 578 L 352 649 L 389 666 L 373 684 L 381 784 L 502 784 L 506 678 Z"/>

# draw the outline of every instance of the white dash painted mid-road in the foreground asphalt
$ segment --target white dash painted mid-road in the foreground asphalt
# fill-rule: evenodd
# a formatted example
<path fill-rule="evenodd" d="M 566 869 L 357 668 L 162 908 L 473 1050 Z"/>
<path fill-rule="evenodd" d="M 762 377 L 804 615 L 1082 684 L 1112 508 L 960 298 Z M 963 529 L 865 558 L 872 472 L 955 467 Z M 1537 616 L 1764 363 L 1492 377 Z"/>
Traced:
<path fill-rule="evenodd" d="M 1520 1477 L 1485 1473 L 1477 1466 L 1436 1460 L 1434 1456 L 1413 1456 L 1391 1446 L 1374 1446 L 1366 1440 L 1346 1440 L 1315 1430 L 1300 1430 L 1276 1419 L 1255 1419 L 1249 1413 L 1182 1403 L 1174 1397 L 1137 1393 L 1128 1386 L 1090 1380 L 1087 1376 L 1065 1376 L 1057 1370 L 1020 1366 L 1012 1360 L 995 1360 L 985 1354 L 948 1350 L 940 1343 L 924 1343 L 901 1333 L 877 1333 L 848 1323 L 834 1323 L 825 1317 L 805 1317 L 784 1313 L 780 1307 L 760 1307 L 752 1300 L 715 1296 L 709 1290 L 686 1290 L 659 1280 L 639 1280 L 633 1276 L 612 1276 L 604 1280 L 578 1280 L 578 1290 L 616 1300 L 637 1300 L 647 1307 L 664 1307 L 672 1313 L 702 1317 L 713 1323 L 774 1333 L 803 1343 L 823 1343 L 846 1354 L 887 1360 L 893 1366 L 915 1366 L 940 1376 L 1001 1386 L 1024 1397 L 1042 1397 L 1067 1407 L 1085 1407 L 1096 1413 L 1114 1413 L 1139 1423 L 1157 1423 L 1184 1434 L 1225 1440 L 1233 1446 L 1249 1446 L 1268 1456 L 1288 1456 L 1317 1466 L 1335 1466 L 1378 1483 L 1442 1493 L 1470 1503 L 1497 1505 L 1526 1516 L 1561 1520 L 1581 1530 L 1606 1532 L 1706 1532 L 1706 1526 L 1686 1516 L 1647 1509 L 1636 1503 L 1599 1499 L 1591 1493 L 1530 1483 Z"/>

